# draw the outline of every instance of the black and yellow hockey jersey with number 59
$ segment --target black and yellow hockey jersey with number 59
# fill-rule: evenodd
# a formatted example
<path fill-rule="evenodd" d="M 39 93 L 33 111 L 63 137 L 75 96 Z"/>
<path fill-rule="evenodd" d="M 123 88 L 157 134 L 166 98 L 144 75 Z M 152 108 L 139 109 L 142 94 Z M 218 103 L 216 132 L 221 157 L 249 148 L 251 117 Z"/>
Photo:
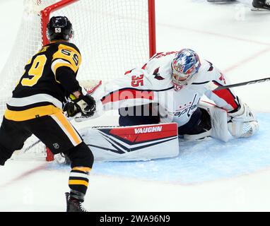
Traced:
<path fill-rule="evenodd" d="M 60 112 L 66 97 L 80 89 L 76 80 L 80 64 L 75 44 L 52 42 L 42 47 L 26 64 L 7 102 L 6 119 L 25 121 Z"/>

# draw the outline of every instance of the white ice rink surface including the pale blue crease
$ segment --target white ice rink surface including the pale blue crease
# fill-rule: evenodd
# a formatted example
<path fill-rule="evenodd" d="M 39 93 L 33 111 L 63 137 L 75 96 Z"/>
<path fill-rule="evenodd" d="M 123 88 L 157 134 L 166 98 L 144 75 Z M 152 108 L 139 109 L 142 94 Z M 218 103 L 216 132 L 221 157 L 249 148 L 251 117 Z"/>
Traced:
<path fill-rule="evenodd" d="M 250 11 L 251 4 L 156 0 L 157 51 L 194 49 L 232 83 L 270 77 L 270 12 Z M 0 71 L 20 29 L 22 9 L 23 0 L 0 0 Z M 84 206 L 91 211 L 270 211 L 269 88 L 269 82 L 235 88 L 265 123 L 254 139 L 236 141 L 238 148 L 227 145 L 225 152 L 205 152 L 206 145 L 200 150 L 196 143 L 177 158 L 181 170 L 166 161 L 94 164 Z M 245 152 L 249 145 L 253 150 Z M 0 167 L 0 211 L 65 211 L 68 179 L 69 168 L 56 163 L 10 160 Z"/>

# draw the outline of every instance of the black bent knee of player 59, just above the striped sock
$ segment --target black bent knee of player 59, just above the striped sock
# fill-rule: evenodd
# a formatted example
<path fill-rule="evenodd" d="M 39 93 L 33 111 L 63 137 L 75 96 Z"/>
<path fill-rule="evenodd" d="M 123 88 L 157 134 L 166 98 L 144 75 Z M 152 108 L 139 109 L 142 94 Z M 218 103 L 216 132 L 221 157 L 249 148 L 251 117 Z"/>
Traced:
<path fill-rule="evenodd" d="M 94 162 L 94 155 L 88 145 L 82 142 L 76 147 L 66 151 L 66 154 L 71 160 L 71 167 L 83 166 L 92 168 Z"/>

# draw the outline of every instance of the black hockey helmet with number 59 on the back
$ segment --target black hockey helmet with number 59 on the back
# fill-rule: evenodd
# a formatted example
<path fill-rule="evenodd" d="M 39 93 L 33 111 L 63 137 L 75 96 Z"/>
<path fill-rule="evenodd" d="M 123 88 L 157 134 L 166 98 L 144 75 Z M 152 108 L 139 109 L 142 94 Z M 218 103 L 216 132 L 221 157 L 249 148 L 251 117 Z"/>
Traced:
<path fill-rule="evenodd" d="M 47 38 L 52 40 L 70 40 L 74 35 L 72 24 L 66 16 L 53 16 L 47 24 Z"/>

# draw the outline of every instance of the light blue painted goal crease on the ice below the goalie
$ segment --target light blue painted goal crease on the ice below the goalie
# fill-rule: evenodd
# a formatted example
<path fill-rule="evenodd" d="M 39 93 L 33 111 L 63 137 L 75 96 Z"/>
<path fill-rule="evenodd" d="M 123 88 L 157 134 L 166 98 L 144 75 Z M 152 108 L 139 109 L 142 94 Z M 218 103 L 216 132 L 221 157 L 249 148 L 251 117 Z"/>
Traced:
<path fill-rule="evenodd" d="M 178 157 L 139 162 L 95 162 L 93 174 L 194 184 L 237 177 L 270 166 L 269 114 L 258 114 L 262 129 L 227 143 L 209 138 L 180 142 Z M 50 169 L 69 169 L 51 165 Z"/>

